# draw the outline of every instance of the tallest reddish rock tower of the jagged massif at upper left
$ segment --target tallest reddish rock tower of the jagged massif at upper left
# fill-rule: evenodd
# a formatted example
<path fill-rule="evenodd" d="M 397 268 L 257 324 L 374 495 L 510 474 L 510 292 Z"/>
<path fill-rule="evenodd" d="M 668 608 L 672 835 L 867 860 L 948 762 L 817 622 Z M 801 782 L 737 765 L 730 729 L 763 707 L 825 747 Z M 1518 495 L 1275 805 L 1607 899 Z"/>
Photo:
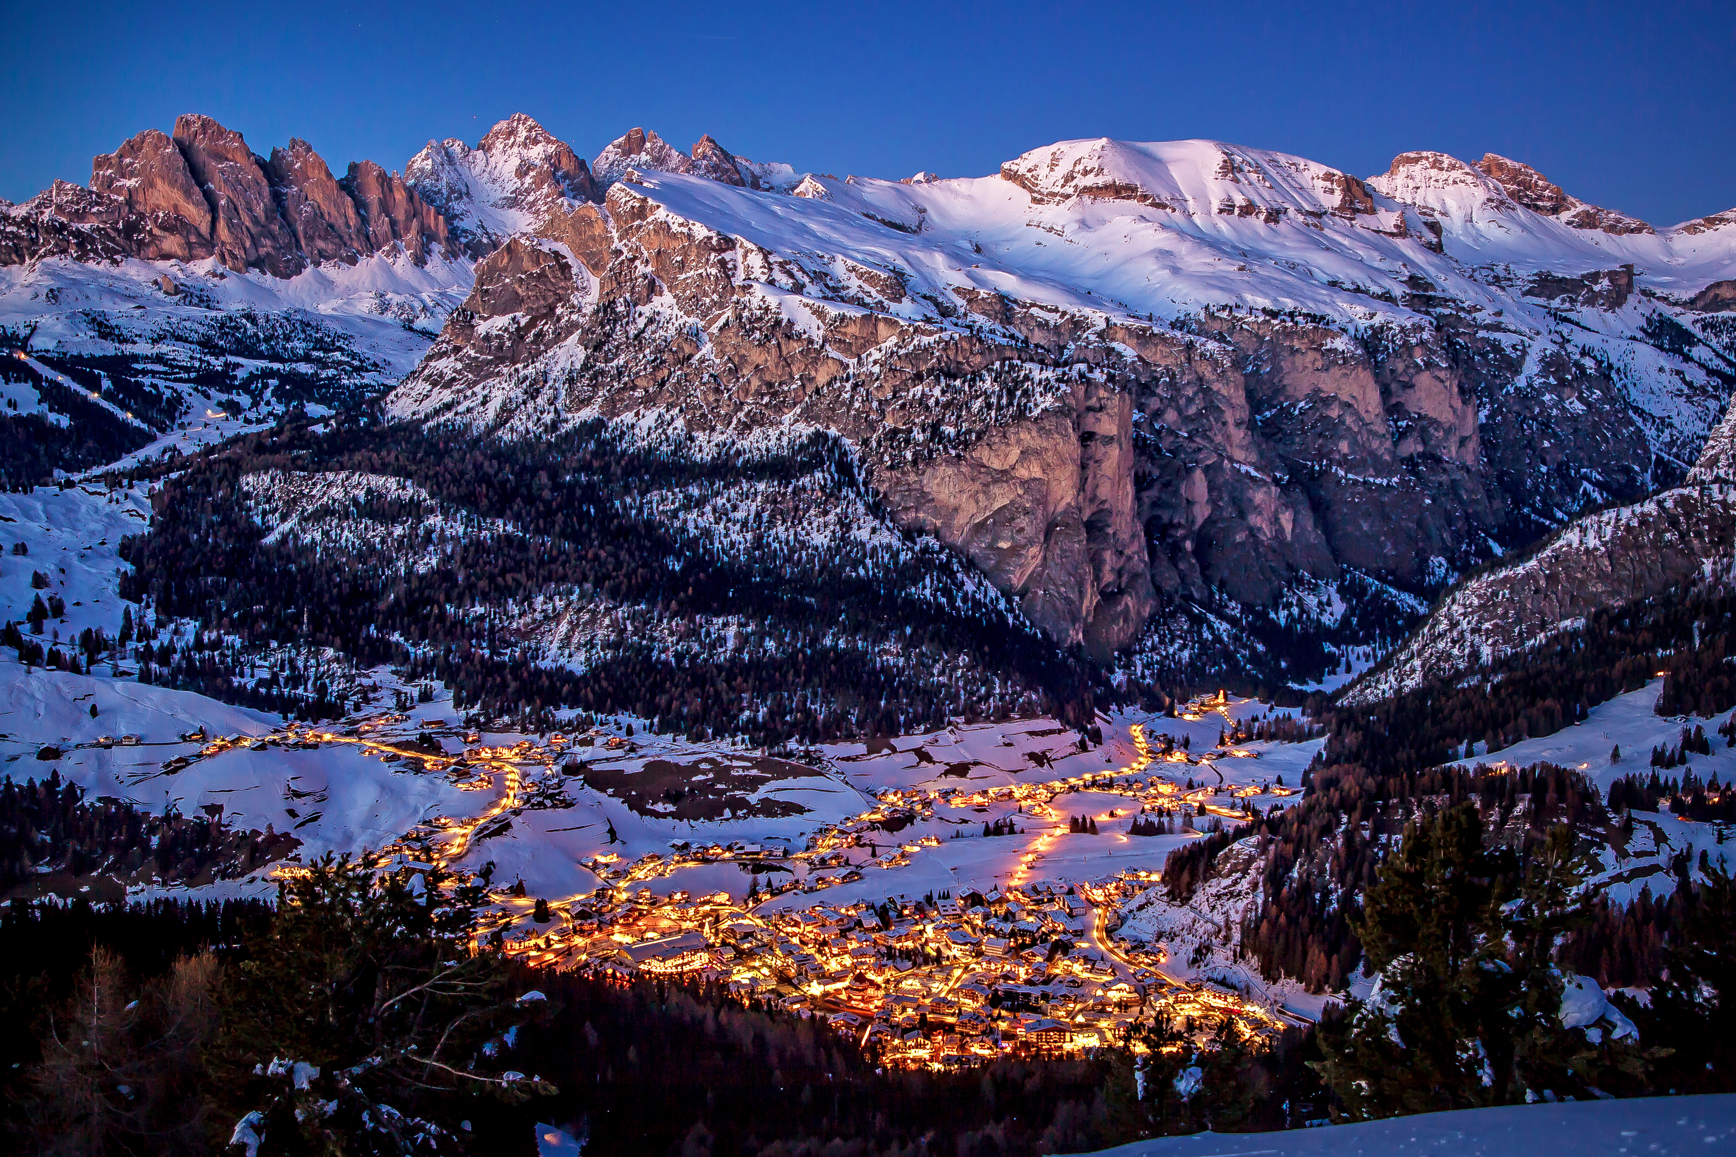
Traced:
<path fill-rule="evenodd" d="M 212 208 L 217 260 L 236 271 L 264 269 L 274 278 L 300 272 L 307 262 L 278 213 L 264 163 L 241 134 L 187 113 L 175 118 L 174 139 Z"/>

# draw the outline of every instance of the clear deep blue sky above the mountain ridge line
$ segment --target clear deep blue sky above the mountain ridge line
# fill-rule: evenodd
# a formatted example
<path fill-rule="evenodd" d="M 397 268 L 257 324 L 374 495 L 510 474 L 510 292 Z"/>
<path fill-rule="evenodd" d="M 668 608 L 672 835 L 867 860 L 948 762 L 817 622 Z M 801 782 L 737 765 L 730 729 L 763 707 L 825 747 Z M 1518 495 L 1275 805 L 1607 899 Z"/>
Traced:
<path fill-rule="evenodd" d="M 0 0 L 0 196 L 200 111 L 342 172 L 514 111 L 799 170 L 995 172 L 1069 137 L 1217 137 L 1352 173 L 1502 153 L 1654 224 L 1736 206 L 1736 3 L 417 5 Z"/>

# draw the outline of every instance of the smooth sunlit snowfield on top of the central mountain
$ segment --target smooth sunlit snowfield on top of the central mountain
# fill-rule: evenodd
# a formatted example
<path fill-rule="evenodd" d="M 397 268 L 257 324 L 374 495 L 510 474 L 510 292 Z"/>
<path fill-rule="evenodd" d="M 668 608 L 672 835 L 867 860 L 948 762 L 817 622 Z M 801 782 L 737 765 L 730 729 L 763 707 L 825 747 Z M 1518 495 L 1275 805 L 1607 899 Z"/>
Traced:
<path fill-rule="evenodd" d="M 1349 210 L 1340 208 L 1345 182 L 1363 198 Z M 1517 305 L 1521 316 L 1510 321 L 1543 328 L 1547 310 L 1517 304 L 1469 271 L 1489 260 L 1575 272 L 1637 262 L 1641 284 L 1656 278 L 1675 290 L 1736 276 L 1736 231 L 1588 238 L 1503 198 L 1500 227 L 1479 232 L 1472 226 L 1483 201 L 1462 210 L 1427 187 L 1389 182 L 1389 196 L 1371 184 L 1368 191 L 1304 158 L 1213 141 L 1071 141 L 1009 161 L 995 177 L 812 177 L 807 187 L 825 196 L 786 199 L 656 173 L 642 191 L 677 217 L 797 262 L 849 255 L 904 271 L 930 291 L 995 290 L 1111 314 L 1175 317 L 1241 304 L 1345 321 L 1403 317 L 1411 312 L 1375 295 L 1399 298 L 1420 274 L 1469 305 Z M 1479 246 L 1457 246 L 1448 234 L 1444 252 L 1432 252 L 1410 199 L 1463 222 L 1463 236 Z M 1488 236 L 1512 241 L 1493 248 Z"/>

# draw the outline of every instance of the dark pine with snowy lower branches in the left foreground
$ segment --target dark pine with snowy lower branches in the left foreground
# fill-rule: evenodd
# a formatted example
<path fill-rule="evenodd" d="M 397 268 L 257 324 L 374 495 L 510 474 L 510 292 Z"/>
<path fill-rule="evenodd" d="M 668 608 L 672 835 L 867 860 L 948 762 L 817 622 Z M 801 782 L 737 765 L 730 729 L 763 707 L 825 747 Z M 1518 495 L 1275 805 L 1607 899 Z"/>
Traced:
<path fill-rule="evenodd" d="M 217 1088 L 267 1152 L 410 1154 L 427 1138 L 457 1150 L 477 1098 L 549 1091 L 483 1055 L 519 1016 L 505 963 L 472 947 L 484 890 L 378 867 L 326 855 L 283 881 L 226 992 Z"/>

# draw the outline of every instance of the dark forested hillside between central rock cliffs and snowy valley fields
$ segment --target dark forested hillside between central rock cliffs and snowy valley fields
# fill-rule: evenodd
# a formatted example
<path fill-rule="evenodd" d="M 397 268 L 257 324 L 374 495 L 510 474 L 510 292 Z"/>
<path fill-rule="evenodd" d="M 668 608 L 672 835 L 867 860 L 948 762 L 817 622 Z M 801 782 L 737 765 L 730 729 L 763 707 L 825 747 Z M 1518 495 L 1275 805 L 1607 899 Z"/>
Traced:
<path fill-rule="evenodd" d="M 212 650 L 155 650 L 141 677 L 229 701 L 276 687 L 243 657 L 267 644 L 403 664 L 524 725 L 627 711 L 773 746 L 1012 711 L 1085 725 L 1102 689 L 891 527 L 823 435 L 707 458 L 602 425 L 477 446 L 354 422 L 241 441 L 156 503 L 125 595 Z"/>

